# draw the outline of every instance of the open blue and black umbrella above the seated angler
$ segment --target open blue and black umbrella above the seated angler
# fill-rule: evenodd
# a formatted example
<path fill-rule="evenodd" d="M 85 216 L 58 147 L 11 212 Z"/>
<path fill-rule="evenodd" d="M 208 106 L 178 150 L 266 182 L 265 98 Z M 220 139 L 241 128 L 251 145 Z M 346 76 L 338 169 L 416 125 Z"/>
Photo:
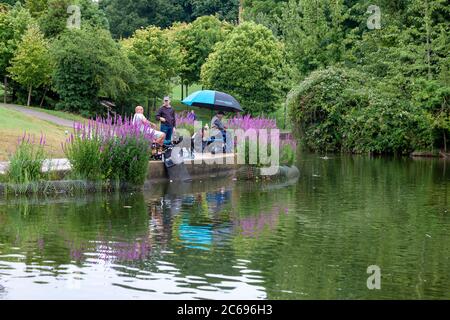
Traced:
<path fill-rule="evenodd" d="M 197 91 L 181 102 L 192 107 L 206 108 L 223 112 L 244 112 L 241 105 L 235 98 L 229 94 L 219 91 Z"/>

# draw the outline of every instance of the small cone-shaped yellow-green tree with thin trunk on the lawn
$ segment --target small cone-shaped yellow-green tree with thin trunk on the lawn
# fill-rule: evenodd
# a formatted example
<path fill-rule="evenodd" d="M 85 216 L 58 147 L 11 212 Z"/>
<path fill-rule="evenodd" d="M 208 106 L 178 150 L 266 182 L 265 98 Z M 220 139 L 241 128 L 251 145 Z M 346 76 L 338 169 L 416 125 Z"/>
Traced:
<path fill-rule="evenodd" d="M 33 88 L 48 85 L 52 72 L 49 44 L 39 27 L 28 28 L 8 71 L 12 79 L 28 88 L 27 106 L 30 106 Z"/>

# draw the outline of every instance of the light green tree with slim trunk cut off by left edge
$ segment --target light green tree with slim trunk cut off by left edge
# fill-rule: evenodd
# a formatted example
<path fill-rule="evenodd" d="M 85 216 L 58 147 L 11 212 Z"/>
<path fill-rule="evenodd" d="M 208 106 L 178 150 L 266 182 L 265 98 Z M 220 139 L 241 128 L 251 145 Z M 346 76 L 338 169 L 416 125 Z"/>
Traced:
<path fill-rule="evenodd" d="M 20 4 L 12 8 L 0 10 L 0 75 L 4 79 L 4 102 L 6 103 L 6 91 L 8 86 L 7 68 L 22 40 L 28 25 L 33 21 L 28 10 Z"/>

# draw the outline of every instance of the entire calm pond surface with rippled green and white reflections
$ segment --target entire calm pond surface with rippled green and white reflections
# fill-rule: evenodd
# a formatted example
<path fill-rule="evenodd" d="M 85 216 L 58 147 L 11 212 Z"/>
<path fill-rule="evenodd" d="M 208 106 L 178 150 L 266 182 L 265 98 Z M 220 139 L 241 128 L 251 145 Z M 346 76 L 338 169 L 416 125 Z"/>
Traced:
<path fill-rule="evenodd" d="M 450 163 L 298 166 L 280 183 L 0 198 L 0 299 L 450 299 Z"/>

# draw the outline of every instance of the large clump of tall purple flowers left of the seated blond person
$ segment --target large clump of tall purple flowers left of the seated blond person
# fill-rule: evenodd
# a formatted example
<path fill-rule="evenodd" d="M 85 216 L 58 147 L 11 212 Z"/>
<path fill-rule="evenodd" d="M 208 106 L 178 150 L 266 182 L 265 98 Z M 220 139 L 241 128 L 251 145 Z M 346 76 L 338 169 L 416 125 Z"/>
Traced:
<path fill-rule="evenodd" d="M 77 176 L 91 181 L 143 185 L 154 131 L 149 124 L 127 117 L 108 117 L 76 123 L 63 146 Z"/>

